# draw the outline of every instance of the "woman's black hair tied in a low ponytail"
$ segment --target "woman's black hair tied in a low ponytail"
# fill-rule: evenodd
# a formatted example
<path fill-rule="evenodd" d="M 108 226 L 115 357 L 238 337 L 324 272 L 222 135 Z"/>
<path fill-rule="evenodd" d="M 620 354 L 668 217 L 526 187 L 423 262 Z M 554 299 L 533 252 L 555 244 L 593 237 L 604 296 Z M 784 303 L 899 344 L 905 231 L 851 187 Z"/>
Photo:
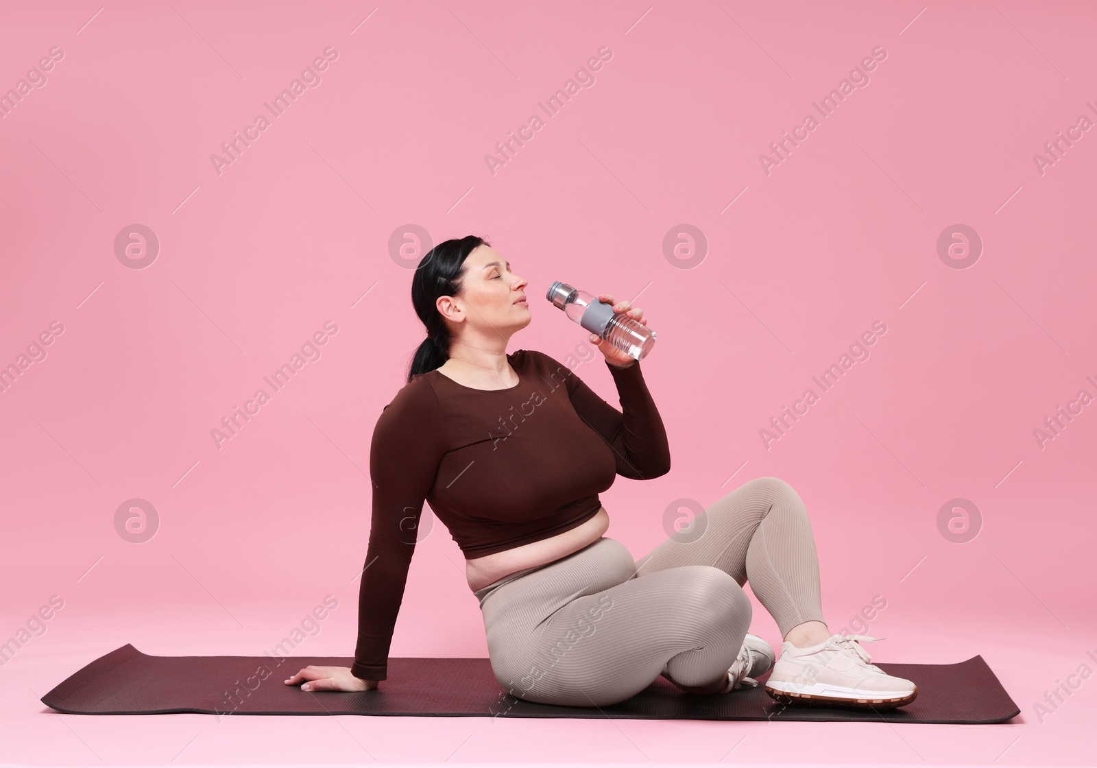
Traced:
<path fill-rule="evenodd" d="M 450 359 L 450 329 L 438 312 L 439 296 L 461 293 L 465 276 L 465 259 L 479 246 L 491 244 L 476 235 L 446 240 L 427 251 L 411 278 L 411 305 L 419 319 L 427 326 L 427 338 L 415 351 L 408 383 L 411 376 L 441 368 Z"/>

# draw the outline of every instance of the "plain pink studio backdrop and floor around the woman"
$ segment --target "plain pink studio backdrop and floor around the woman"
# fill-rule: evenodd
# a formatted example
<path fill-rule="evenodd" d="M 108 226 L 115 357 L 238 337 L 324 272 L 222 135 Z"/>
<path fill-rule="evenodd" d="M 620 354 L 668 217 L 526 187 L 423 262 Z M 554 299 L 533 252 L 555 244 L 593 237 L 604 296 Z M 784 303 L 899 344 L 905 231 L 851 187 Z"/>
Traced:
<path fill-rule="evenodd" d="M 64 608 L 0 667 L 19 724 L 3 759 L 1092 764 L 1097 680 L 1042 723 L 1034 703 L 1097 670 L 1097 405 L 1042 449 L 1033 430 L 1079 389 L 1097 396 L 1097 135 L 1042 174 L 1033 155 L 1097 120 L 1095 22 L 1081 2 L 5 7 L 0 91 L 54 46 L 64 58 L 0 120 L 0 365 L 52 323 L 64 332 L 0 392 L 0 639 L 52 595 Z M 211 155 L 328 46 L 319 84 L 218 174 Z M 493 174 L 485 155 L 602 46 L 593 83 Z M 812 102 L 877 46 L 867 86 L 819 117 Z M 767 174 L 759 155 L 808 113 L 818 127 Z M 134 224 L 160 242 L 145 269 L 114 251 Z M 1021 715 L 47 714 L 41 696 L 120 645 L 258 655 L 327 595 L 338 608 L 295 653 L 353 653 L 370 437 L 423 338 L 389 247 L 408 224 L 436 244 L 482 235 L 530 281 L 533 321 L 508 351 L 585 351 L 543 298 L 554 280 L 643 307 L 674 467 L 618 478 L 607 535 L 638 558 L 674 499 L 782 477 L 812 515 L 832 630 L 882 596 L 875 660 L 981 654 Z M 690 269 L 664 248 L 682 224 L 708 240 Z M 983 244 L 966 269 L 937 250 L 958 224 Z M 320 357 L 272 394 L 263 376 L 329 320 Z M 767 448 L 759 429 L 819 394 L 812 376 L 878 320 L 870 357 Z M 576 373 L 615 405 L 603 368 Z M 270 403 L 218 449 L 211 429 L 259 387 Z M 142 544 L 115 528 L 131 498 L 159 518 Z M 953 498 L 982 516 L 966 543 L 938 527 Z M 779 647 L 750 595 L 751 631 Z M 420 541 L 392 655 L 487 655 L 441 524 Z M 561 727 L 567 739 L 544 737 Z"/>

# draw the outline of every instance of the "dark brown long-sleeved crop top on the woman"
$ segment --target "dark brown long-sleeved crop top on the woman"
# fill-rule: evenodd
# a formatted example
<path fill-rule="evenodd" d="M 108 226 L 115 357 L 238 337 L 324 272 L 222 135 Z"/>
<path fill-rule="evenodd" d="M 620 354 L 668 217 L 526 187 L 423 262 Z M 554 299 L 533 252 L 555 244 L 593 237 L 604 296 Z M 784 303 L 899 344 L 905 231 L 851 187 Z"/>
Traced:
<path fill-rule="evenodd" d="M 476 389 L 428 371 L 382 409 L 370 445 L 373 517 L 355 677 L 387 677 L 425 500 L 472 560 L 589 520 L 615 475 L 670 471 L 667 433 L 638 361 L 615 368 L 603 359 L 618 410 L 543 352 L 520 349 L 507 359 L 519 376 L 513 387 Z"/>

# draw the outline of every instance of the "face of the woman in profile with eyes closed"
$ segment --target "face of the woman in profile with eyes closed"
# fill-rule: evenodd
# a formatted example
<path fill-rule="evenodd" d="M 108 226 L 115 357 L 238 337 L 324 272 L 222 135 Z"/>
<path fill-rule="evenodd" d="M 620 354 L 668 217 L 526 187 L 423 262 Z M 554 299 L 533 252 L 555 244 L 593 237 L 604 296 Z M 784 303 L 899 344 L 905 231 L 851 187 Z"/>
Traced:
<path fill-rule="evenodd" d="M 533 319 L 523 290 L 527 282 L 490 246 L 479 246 L 465 258 L 460 297 L 440 297 L 439 308 L 451 320 L 466 324 L 464 332 L 510 336 Z M 455 302 L 443 306 L 445 298 Z"/>

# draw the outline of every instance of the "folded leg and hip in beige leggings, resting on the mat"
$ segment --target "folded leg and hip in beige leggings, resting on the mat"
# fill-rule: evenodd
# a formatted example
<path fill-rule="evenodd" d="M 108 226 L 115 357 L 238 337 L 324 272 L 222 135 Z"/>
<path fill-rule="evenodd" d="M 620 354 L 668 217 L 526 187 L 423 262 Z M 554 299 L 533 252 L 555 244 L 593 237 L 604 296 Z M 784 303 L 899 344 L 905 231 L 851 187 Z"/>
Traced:
<path fill-rule="evenodd" d="M 623 701 L 668 667 L 679 685 L 722 689 L 750 624 L 746 592 L 709 565 L 635 573 L 627 547 L 602 538 L 488 595 L 499 684 L 572 707 Z"/>

